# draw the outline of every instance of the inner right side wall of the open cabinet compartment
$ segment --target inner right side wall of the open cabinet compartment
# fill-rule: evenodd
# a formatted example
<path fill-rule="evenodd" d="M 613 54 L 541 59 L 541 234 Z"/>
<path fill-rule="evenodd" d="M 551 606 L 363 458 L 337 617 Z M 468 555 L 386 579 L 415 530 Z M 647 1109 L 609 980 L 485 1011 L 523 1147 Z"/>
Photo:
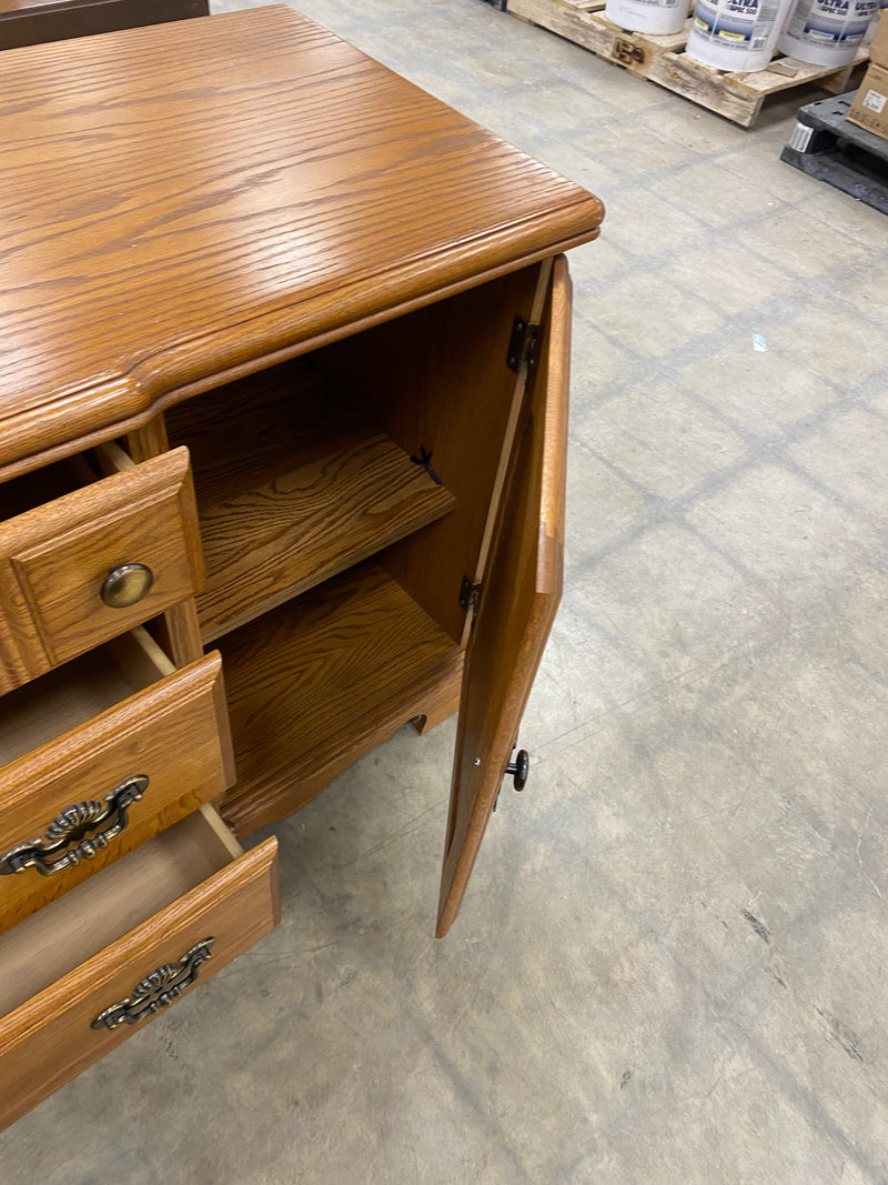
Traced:
<path fill-rule="evenodd" d="M 321 351 L 345 390 L 401 448 L 422 442 L 457 500 L 451 514 L 390 547 L 386 571 L 456 641 L 465 634 L 463 577 L 481 578 L 488 518 L 498 498 L 507 425 L 523 379 L 507 364 L 516 316 L 533 321 L 548 263 L 522 268 Z M 545 273 L 546 278 L 541 278 Z M 540 306 L 539 312 L 541 312 Z M 187 406 L 187 404 L 186 404 Z M 508 438 L 507 438 L 508 437 Z"/>

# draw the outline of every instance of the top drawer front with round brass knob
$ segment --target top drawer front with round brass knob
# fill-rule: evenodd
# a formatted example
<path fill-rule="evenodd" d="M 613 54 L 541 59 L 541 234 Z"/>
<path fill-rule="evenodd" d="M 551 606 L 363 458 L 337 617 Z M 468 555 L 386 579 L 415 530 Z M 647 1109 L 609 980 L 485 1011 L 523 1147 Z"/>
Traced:
<path fill-rule="evenodd" d="M 0 524 L 0 691 L 126 633 L 202 582 L 187 449 Z"/>

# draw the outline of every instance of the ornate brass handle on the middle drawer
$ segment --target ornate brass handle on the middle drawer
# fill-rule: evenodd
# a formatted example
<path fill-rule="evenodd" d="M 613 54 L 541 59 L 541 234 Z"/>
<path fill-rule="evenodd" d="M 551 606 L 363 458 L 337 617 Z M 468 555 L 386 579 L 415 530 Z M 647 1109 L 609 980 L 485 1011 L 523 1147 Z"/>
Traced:
<path fill-rule="evenodd" d="M 108 847 L 120 835 L 129 822 L 127 812 L 147 789 L 148 777 L 137 774 L 105 794 L 102 802 L 75 802 L 65 807 L 46 828 L 43 839 L 17 844 L 0 856 L 0 876 L 37 869 L 41 876 L 49 877 L 72 869 L 81 860 L 91 860 L 96 852 Z M 97 827 L 102 830 L 96 831 Z M 69 846 L 71 844 L 73 847 Z"/>

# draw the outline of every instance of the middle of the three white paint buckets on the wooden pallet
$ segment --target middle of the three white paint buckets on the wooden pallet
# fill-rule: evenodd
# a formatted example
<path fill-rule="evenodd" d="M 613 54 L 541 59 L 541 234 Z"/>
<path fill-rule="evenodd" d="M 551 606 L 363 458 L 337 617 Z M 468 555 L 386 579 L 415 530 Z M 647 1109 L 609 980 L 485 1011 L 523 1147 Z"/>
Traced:
<path fill-rule="evenodd" d="M 792 0 L 697 0 L 687 55 L 716 70 L 764 70 Z"/>

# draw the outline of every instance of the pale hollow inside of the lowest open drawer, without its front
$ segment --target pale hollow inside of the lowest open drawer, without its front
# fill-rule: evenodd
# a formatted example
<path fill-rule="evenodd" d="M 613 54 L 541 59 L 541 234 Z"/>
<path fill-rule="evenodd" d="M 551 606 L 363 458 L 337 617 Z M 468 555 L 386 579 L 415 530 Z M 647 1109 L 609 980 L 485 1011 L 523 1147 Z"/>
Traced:
<path fill-rule="evenodd" d="M 225 867 L 223 831 L 205 807 L 0 935 L 0 1017 Z"/>

